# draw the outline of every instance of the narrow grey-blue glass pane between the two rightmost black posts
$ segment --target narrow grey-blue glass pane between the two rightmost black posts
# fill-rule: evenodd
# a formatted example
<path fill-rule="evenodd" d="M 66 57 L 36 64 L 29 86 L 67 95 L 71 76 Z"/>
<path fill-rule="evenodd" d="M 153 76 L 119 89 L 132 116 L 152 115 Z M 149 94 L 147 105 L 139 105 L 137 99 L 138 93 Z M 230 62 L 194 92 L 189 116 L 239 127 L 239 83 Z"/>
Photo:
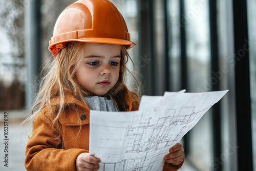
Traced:
<path fill-rule="evenodd" d="M 237 170 L 237 153 L 228 153 L 230 145 L 237 141 L 236 133 L 236 97 L 234 80 L 233 43 L 233 7 L 232 0 L 218 1 L 218 40 L 220 56 L 221 90 L 229 92 L 221 100 L 221 134 L 222 156 L 220 158 L 223 170 Z M 215 160 L 216 166 L 220 162 Z"/>

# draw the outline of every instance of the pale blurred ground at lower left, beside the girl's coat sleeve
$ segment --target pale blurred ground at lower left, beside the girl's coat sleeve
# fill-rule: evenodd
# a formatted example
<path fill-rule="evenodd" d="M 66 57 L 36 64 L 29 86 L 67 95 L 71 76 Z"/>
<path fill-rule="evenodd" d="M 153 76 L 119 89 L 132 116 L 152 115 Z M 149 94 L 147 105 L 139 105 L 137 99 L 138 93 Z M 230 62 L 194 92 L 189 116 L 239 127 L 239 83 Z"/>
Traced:
<path fill-rule="evenodd" d="M 8 135 L 5 137 L 4 129 L 4 113 L 8 113 Z M 20 125 L 27 118 L 26 112 L 22 111 L 0 111 L 0 170 L 26 170 L 25 161 L 25 143 L 27 142 L 28 126 Z M 7 140 L 6 140 L 7 139 Z M 6 153 L 6 145 L 8 143 L 8 153 Z M 7 144 L 6 143 L 6 144 Z M 5 166 L 5 156 L 8 155 L 8 167 Z"/>

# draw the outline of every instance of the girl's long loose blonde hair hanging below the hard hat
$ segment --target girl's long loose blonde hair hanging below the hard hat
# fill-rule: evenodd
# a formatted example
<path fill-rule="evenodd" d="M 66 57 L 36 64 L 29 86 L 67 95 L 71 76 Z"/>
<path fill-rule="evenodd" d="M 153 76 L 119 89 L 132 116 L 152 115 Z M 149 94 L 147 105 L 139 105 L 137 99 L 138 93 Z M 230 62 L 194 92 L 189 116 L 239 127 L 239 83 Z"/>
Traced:
<path fill-rule="evenodd" d="M 84 97 L 90 96 L 91 94 L 90 92 L 85 90 L 76 79 L 76 70 L 82 59 L 82 49 L 86 44 L 86 42 L 67 42 L 66 47 L 63 48 L 55 58 L 52 56 L 49 59 L 49 61 L 47 62 L 48 66 L 46 66 L 47 68 L 44 67 L 41 72 L 41 75 L 44 75 L 44 70 L 47 70 L 46 74 L 40 80 L 39 92 L 36 96 L 35 103 L 32 106 L 31 116 L 26 121 L 33 121 L 37 114 L 40 113 L 40 111 L 42 111 L 44 108 L 46 108 L 50 117 L 53 118 L 52 128 L 54 131 L 56 131 L 59 137 L 60 124 L 58 118 L 61 113 L 67 109 L 67 106 L 65 106 L 66 94 L 69 92 L 76 99 L 86 104 Z M 126 71 L 129 72 L 135 79 L 138 88 L 137 92 L 139 91 L 138 81 L 136 80 L 132 72 L 130 72 L 126 68 L 126 63 L 129 58 L 132 61 L 130 55 L 126 51 L 126 47 L 121 46 L 119 78 L 116 85 L 105 95 L 114 101 L 119 111 L 127 110 L 124 98 L 122 97 L 122 91 L 125 87 L 124 80 L 126 77 Z M 53 99 L 54 97 L 58 97 L 60 99 L 60 103 L 57 106 L 57 109 L 56 106 L 52 106 L 50 102 L 51 99 Z"/>

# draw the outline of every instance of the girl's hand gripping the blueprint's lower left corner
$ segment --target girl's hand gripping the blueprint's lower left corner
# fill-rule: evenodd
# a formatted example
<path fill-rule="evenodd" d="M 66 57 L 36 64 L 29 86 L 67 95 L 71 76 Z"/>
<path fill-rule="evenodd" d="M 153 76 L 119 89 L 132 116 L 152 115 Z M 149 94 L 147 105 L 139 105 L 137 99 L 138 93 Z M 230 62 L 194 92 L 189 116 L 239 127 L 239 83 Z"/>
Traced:
<path fill-rule="evenodd" d="M 100 159 L 90 156 L 89 153 L 81 153 L 76 158 L 76 170 L 98 170 Z"/>

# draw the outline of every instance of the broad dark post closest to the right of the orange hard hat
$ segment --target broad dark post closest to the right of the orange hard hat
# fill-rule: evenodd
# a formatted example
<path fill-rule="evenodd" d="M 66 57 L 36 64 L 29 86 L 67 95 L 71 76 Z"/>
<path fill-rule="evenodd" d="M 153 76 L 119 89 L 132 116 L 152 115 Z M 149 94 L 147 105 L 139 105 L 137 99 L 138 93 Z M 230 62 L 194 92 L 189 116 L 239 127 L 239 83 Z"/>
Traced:
<path fill-rule="evenodd" d="M 146 95 L 154 95 L 155 93 L 155 81 L 156 77 L 154 72 L 154 54 L 155 54 L 155 41 L 154 41 L 154 1 L 145 0 L 138 1 L 138 27 L 139 27 L 139 42 L 140 42 L 140 58 L 150 58 L 150 62 L 140 67 L 140 72 L 145 78 L 144 93 Z M 139 62 L 143 60 L 139 59 Z"/>

